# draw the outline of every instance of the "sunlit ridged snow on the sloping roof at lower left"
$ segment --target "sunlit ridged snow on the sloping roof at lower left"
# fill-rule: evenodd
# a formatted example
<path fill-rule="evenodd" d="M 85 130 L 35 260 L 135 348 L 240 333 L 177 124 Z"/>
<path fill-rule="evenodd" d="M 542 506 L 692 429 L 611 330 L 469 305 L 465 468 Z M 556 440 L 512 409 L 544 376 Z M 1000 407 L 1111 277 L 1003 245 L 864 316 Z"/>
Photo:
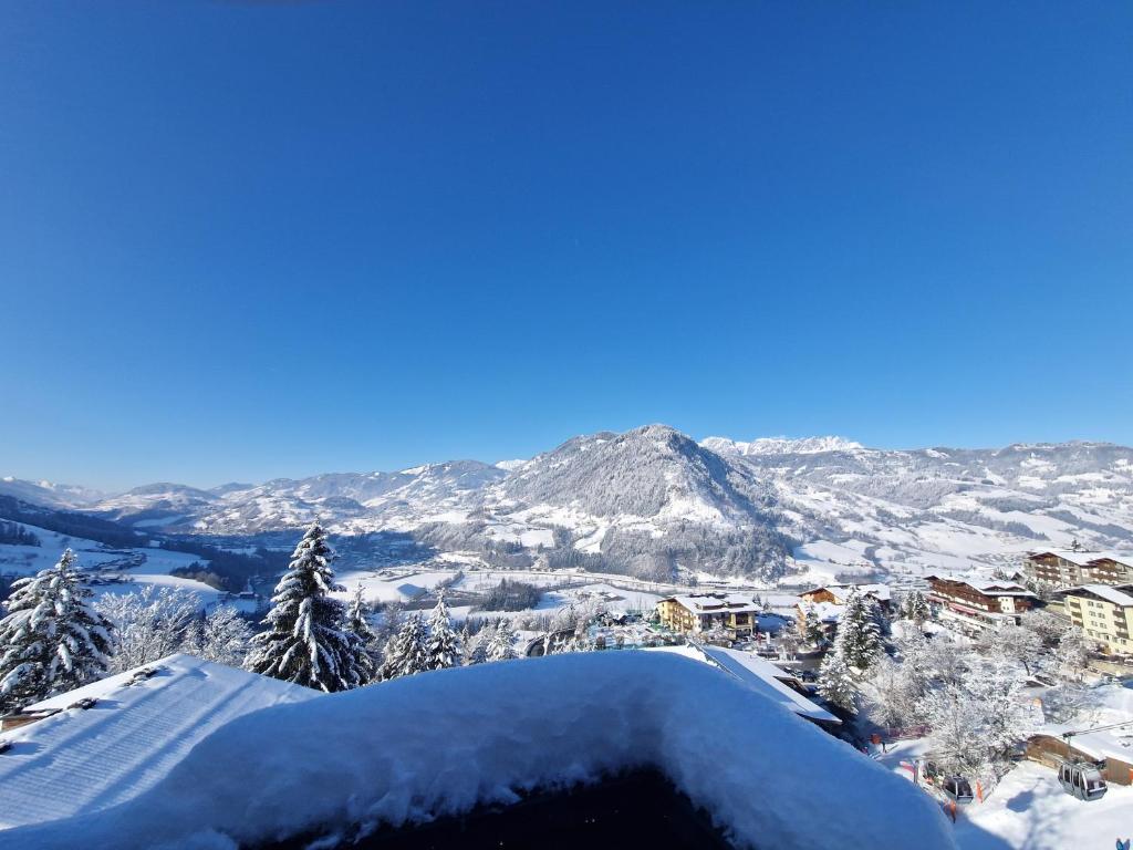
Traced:
<path fill-rule="evenodd" d="M 53 821 L 121 802 L 161 780 L 228 721 L 318 691 L 244 670 L 170 655 L 28 707 L 63 709 L 0 734 L 0 828 Z M 146 668 L 138 668 L 144 670 Z M 65 711 L 83 698 L 92 708 Z M 0 844 L 6 844 L 0 839 Z"/>

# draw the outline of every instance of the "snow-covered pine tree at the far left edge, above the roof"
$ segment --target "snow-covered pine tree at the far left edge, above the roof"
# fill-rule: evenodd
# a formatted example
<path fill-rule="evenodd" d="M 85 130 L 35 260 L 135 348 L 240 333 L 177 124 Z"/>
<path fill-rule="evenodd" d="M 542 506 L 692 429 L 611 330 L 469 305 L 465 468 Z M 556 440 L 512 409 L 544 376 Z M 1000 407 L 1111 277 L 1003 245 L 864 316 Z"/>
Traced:
<path fill-rule="evenodd" d="M 69 549 L 12 585 L 0 620 L 0 709 L 12 711 L 86 685 L 110 662 L 113 627 L 90 604 Z"/>

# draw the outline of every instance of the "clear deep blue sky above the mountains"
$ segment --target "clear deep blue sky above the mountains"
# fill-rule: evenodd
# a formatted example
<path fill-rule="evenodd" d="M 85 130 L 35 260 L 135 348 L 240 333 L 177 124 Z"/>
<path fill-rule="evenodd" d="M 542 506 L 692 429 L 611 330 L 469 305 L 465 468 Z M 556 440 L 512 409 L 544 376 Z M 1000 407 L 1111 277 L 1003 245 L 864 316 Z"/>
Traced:
<path fill-rule="evenodd" d="M 1133 6 L 0 5 L 0 475 L 1133 443 Z"/>

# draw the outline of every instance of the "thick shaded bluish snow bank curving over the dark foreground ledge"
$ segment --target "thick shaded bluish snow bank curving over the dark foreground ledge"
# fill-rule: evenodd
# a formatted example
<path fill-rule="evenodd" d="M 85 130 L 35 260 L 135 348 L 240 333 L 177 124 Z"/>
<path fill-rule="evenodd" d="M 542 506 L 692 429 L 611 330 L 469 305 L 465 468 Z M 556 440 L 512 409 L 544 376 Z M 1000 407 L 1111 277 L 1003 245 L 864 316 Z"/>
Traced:
<path fill-rule="evenodd" d="M 718 670 L 627 651 L 433 671 L 272 706 L 213 732 L 142 796 L 11 830 L 5 850 L 254 845 L 457 815 L 645 766 L 741 845 L 955 848 L 928 796 L 850 745 Z"/>

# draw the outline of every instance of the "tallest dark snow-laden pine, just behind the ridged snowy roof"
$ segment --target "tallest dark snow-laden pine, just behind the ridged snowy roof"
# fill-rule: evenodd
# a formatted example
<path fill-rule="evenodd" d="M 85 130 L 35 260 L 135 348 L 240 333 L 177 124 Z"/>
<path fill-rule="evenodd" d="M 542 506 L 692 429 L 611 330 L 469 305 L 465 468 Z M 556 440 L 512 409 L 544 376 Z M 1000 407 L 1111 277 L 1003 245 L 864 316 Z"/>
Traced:
<path fill-rule="evenodd" d="M 248 670 L 329 692 L 373 679 L 365 646 L 347 628 L 346 606 L 330 595 L 342 589 L 334 584 L 333 556 L 322 527 L 312 524 L 275 586 Z"/>

